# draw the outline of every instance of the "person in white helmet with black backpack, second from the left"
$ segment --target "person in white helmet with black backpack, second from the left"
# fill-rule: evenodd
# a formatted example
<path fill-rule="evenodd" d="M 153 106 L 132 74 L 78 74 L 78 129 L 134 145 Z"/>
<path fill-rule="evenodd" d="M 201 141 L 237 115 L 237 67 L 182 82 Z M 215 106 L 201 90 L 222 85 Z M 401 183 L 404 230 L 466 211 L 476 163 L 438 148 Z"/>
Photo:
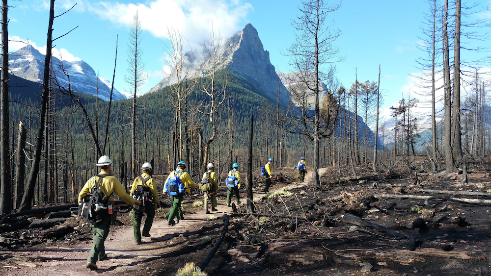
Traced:
<path fill-rule="evenodd" d="M 133 221 L 133 233 L 135 235 L 136 244 L 141 244 L 141 236 L 150 237 L 150 228 L 152 228 L 153 219 L 155 217 L 155 208 L 159 202 L 159 194 L 155 179 L 151 176 L 152 165 L 145 163 L 141 166 L 141 175 L 135 178 L 131 187 L 130 196 L 136 200 L 141 200 L 140 208 L 132 210 L 131 220 Z M 140 234 L 141 219 L 145 212 L 146 219 L 143 225 L 143 231 Z"/>

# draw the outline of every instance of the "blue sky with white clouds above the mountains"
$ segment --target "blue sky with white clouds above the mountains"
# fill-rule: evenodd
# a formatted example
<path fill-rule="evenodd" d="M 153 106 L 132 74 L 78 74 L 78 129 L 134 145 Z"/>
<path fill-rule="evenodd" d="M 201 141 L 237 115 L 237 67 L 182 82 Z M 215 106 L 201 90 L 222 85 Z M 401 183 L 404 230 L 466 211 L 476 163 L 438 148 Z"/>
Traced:
<path fill-rule="evenodd" d="M 143 25 L 144 70 L 147 81 L 141 93 L 147 92 L 162 78 L 163 53 L 168 27 L 179 29 L 192 47 L 199 47 L 214 29 L 230 37 L 247 23 L 258 31 L 264 49 L 270 52 L 277 71 L 289 72 L 289 57 L 282 54 L 295 39 L 291 21 L 299 15 L 299 0 L 56 0 L 55 15 L 75 8 L 55 19 L 54 37 L 70 34 L 55 42 L 57 52 L 66 60 L 87 62 L 103 78 L 111 79 L 114 67 L 116 36 L 118 60 L 115 87 L 125 92 L 127 74 L 128 27 L 138 14 Z M 337 4 L 340 1 L 329 1 Z M 36 48 L 46 47 L 49 0 L 9 1 L 9 38 L 29 41 Z M 484 5 L 489 0 L 483 1 Z M 397 0 L 345 0 L 339 10 L 328 16 L 327 23 L 342 35 L 334 42 L 345 56 L 337 64 L 337 77 L 347 88 L 358 80 L 377 81 L 382 69 L 381 91 L 384 106 L 391 106 L 402 93 L 416 97 L 413 86 L 415 59 L 422 55 L 417 49 L 420 26 L 428 6 L 423 0 L 410 4 Z M 481 13 L 479 16 L 488 16 Z M 489 44 L 489 43 L 488 43 Z M 11 42 L 10 50 L 23 46 Z M 386 112 L 388 113 L 388 112 Z"/>

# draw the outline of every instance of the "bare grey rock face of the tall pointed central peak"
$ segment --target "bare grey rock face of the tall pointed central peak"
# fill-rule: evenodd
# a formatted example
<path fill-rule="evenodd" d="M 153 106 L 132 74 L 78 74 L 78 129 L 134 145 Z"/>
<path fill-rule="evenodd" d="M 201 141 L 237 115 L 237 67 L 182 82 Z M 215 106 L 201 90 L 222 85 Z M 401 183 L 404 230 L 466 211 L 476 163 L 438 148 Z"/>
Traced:
<path fill-rule="evenodd" d="M 191 55 L 188 53 L 187 56 Z M 208 63 L 209 60 L 204 62 Z M 270 54 L 263 49 L 257 30 L 252 25 L 247 24 L 242 31 L 227 39 L 223 64 L 263 90 L 262 96 L 273 103 L 277 100 L 279 86 L 280 103 L 288 104 L 289 92 L 276 74 L 274 66 L 270 62 Z M 203 75 L 199 64 L 196 65 L 196 70 L 201 71 L 198 75 Z M 166 85 L 168 85 L 167 82 L 162 80 L 150 92 Z"/>

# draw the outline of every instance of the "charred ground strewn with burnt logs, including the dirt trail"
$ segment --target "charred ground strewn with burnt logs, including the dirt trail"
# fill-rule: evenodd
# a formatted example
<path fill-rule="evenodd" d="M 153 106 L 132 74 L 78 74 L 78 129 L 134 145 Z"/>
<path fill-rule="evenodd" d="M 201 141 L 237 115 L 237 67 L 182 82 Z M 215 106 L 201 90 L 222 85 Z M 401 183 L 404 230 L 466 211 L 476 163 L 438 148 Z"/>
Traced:
<path fill-rule="evenodd" d="M 491 275 L 489 164 L 470 169 L 461 184 L 459 174 L 421 171 L 424 159 L 405 156 L 379 174 L 356 168 L 357 176 L 351 168 L 323 168 L 322 190 L 313 187 L 311 170 L 299 183 L 298 171 L 284 167 L 274 169 L 265 194 L 254 173 L 255 215 L 244 204 L 245 184 L 241 204 L 232 207 L 221 184 L 211 214 L 194 190 L 175 226 L 164 219 L 164 197 L 141 245 L 122 207 L 105 243 L 109 258 L 97 271 L 85 268 L 92 237 L 81 217 L 45 227 L 32 224 L 49 220 L 47 213 L 2 218 L 0 275 L 165 276 L 188 262 L 209 276 Z M 162 186 L 166 176 L 155 177 Z"/>

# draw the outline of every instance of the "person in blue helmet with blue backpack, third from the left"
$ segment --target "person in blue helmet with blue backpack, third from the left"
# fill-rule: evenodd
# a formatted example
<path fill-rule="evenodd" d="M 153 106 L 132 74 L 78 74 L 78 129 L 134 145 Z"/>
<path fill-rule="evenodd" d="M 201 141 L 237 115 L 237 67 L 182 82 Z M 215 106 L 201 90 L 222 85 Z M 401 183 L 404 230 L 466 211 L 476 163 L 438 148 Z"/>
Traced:
<path fill-rule="evenodd" d="M 186 163 L 180 161 L 177 163 L 175 171 L 171 172 L 164 183 L 164 195 L 170 197 L 172 207 L 165 215 L 167 224 L 175 225 L 174 218 L 177 217 L 177 222 L 182 219 L 181 203 L 184 198 L 184 193 L 191 195 L 191 188 L 196 188 L 196 184 L 191 180 L 191 176 L 186 173 Z"/>

